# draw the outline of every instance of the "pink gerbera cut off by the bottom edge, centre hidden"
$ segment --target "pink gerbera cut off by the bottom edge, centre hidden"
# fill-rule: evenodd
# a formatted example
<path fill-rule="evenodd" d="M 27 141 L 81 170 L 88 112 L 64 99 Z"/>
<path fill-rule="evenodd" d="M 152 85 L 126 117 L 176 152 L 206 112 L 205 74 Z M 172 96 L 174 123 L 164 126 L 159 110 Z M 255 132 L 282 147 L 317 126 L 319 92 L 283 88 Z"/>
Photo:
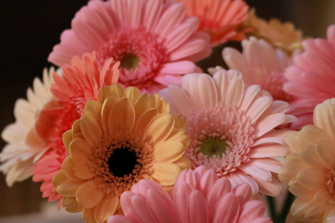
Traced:
<path fill-rule="evenodd" d="M 213 170 L 183 170 L 176 179 L 172 199 L 156 182 L 143 179 L 121 195 L 124 216 L 107 223 L 270 223 L 261 201 L 252 200 L 250 185 L 232 189 L 228 179 Z"/>

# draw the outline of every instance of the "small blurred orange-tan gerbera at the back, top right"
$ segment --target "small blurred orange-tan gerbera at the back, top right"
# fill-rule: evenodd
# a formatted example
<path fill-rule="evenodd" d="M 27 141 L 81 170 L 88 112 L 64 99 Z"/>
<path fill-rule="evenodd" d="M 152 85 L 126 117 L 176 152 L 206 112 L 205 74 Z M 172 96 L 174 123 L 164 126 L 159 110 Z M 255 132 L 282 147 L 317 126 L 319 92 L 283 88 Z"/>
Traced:
<path fill-rule="evenodd" d="M 279 19 L 272 18 L 266 21 L 257 17 L 255 10 L 249 12 L 248 18 L 243 23 L 244 27 L 252 28 L 249 35 L 268 41 L 272 46 L 292 53 L 301 48 L 303 40 L 302 31 L 295 29 L 291 22 L 282 23 Z"/>

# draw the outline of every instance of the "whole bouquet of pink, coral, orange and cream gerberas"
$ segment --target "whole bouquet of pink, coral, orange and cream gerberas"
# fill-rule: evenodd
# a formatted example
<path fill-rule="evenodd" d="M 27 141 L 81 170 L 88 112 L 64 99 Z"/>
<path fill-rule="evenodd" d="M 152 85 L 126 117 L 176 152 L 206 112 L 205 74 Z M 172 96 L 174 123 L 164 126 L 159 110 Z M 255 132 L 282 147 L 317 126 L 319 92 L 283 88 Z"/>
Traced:
<path fill-rule="evenodd" d="M 91 0 L 71 24 L 2 132 L 8 186 L 85 222 L 335 222 L 335 26 L 303 41 L 242 0 Z"/>

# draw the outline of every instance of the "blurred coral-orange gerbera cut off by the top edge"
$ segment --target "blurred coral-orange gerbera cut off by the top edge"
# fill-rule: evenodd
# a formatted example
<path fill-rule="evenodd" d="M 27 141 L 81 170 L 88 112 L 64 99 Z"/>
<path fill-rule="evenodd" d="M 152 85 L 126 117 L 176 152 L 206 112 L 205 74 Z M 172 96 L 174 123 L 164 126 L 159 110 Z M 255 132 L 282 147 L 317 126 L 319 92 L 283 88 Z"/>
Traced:
<path fill-rule="evenodd" d="M 200 19 L 199 31 L 207 32 L 211 45 L 246 39 L 250 29 L 241 29 L 248 17 L 249 6 L 243 0 L 179 0 L 186 6 L 186 15 Z M 240 29 L 240 30 L 239 30 Z"/>

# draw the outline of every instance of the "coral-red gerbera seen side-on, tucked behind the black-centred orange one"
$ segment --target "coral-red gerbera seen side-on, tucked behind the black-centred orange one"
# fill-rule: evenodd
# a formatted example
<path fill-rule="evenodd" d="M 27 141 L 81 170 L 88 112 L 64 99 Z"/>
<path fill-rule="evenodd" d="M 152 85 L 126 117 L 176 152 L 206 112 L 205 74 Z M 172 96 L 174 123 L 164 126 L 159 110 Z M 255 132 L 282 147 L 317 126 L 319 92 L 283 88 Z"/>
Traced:
<path fill-rule="evenodd" d="M 54 74 L 55 83 L 51 91 L 56 98 L 45 105 L 36 121 L 36 130 L 48 142 L 50 149 L 36 162 L 32 177 L 35 182 L 43 182 L 40 188 L 42 197 L 48 197 L 49 201 L 61 198 L 51 181 L 68 156 L 62 135 L 81 117 L 87 100 L 97 98 L 100 87 L 117 82 L 119 63 L 113 64 L 112 61 L 110 58 L 99 69 L 95 53 L 86 53 L 81 59 L 75 56 L 71 65 L 64 66 L 62 77 Z"/>

